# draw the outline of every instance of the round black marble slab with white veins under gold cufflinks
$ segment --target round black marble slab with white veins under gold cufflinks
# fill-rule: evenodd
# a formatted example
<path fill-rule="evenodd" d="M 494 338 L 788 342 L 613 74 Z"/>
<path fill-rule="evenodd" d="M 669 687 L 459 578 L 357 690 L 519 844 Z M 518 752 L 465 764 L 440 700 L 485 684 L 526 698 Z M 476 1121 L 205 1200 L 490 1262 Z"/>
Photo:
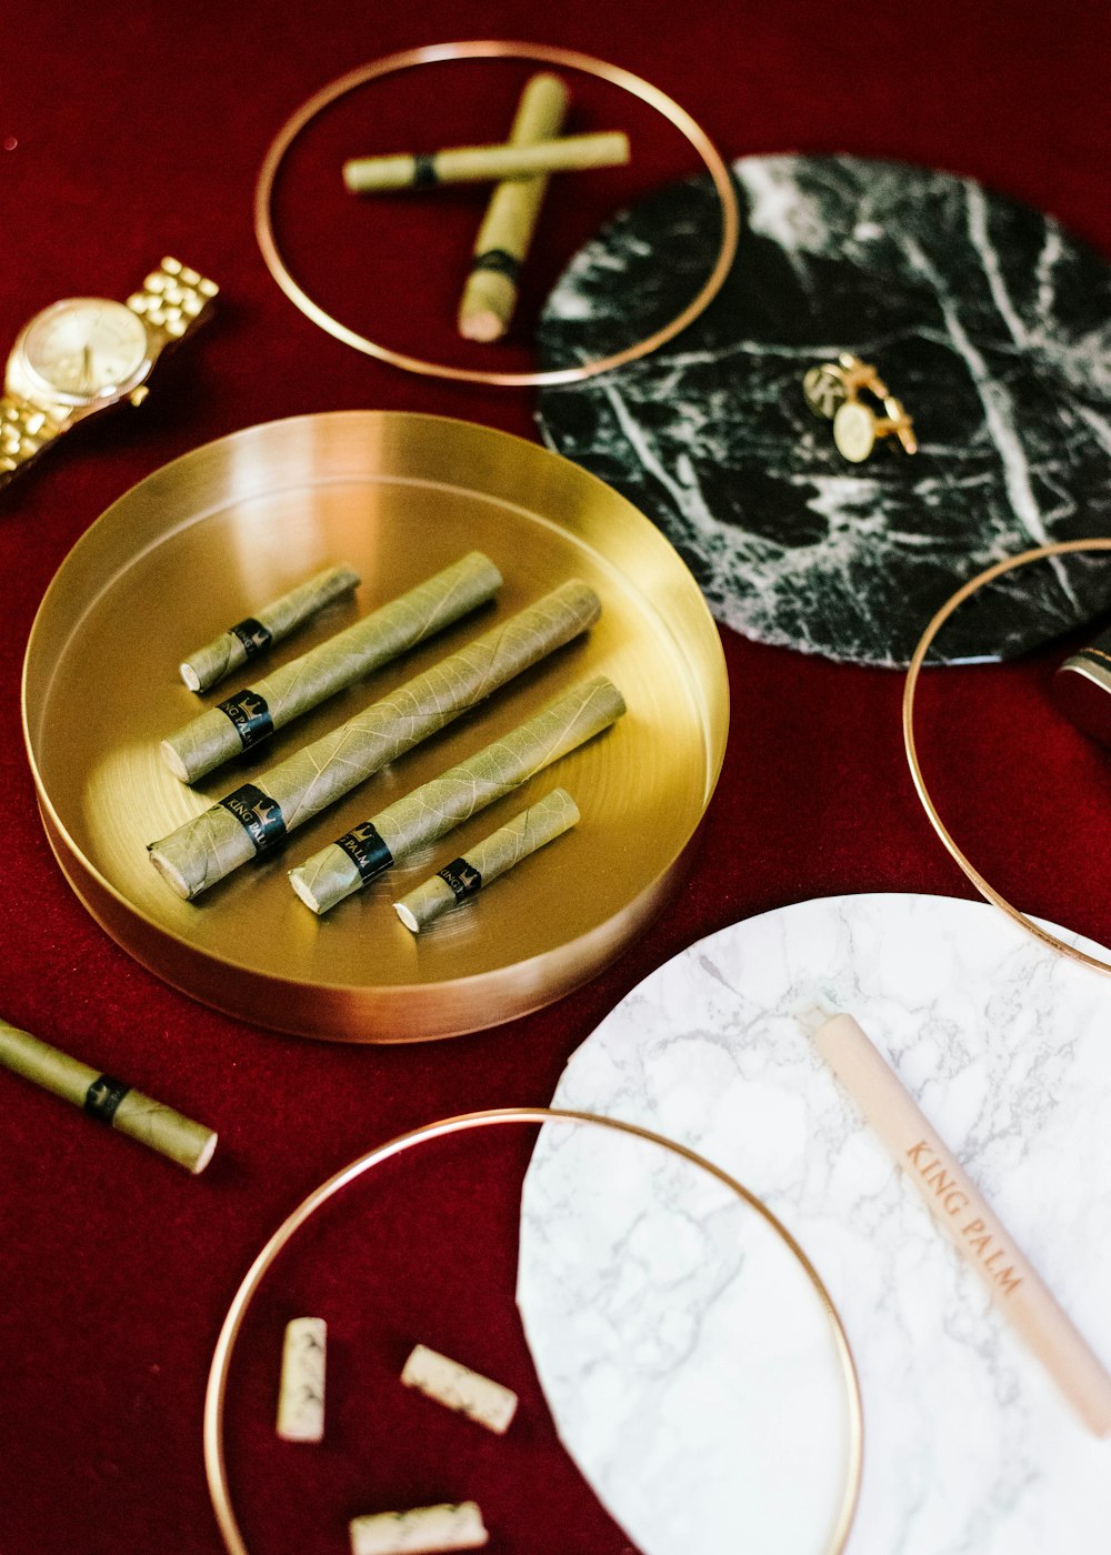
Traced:
<path fill-rule="evenodd" d="M 734 163 L 725 288 L 661 351 L 540 398 L 546 442 L 649 513 L 719 620 L 761 642 L 902 666 L 991 561 L 1111 530 L 1111 269 L 969 179 L 860 157 Z M 627 345 L 705 280 L 708 179 L 610 222 L 545 306 L 541 365 Z M 915 421 L 865 463 L 803 398 L 808 367 L 874 362 Z M 1111 603 L 1099 555 L 1024 568 L 962 606 L 951 662 L 1021 653 Z"/>

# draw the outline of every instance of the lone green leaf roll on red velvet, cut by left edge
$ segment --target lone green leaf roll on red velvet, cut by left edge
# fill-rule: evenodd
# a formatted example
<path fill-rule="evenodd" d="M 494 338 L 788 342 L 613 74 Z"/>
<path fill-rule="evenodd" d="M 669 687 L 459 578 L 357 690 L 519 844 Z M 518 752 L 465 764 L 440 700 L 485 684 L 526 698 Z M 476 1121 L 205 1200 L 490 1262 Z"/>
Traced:
<path fill-rule="evenodd" d="M 101 1075 L 61 1048 L 51 1048 L 30 1031 L 9 1026 L 6 1020 L 0 1020 L 0 1065 L 82 1107 L 98 1123 L 168 1155 L 195 1176 L 204 1171 L 216 1149 L 216 1135 L 202 1123 L 193 1123 L 112 1075 Z"/>

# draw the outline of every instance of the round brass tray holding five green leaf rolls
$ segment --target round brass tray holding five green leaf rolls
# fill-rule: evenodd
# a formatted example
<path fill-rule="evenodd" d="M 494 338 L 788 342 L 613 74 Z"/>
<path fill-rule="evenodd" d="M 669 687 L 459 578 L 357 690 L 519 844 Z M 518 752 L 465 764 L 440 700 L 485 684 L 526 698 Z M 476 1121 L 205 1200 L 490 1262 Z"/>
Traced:
<path fill-rule="evenodd" d="M 205 698 L 184 650 L 333 561 L 356 602 L 282 644 L 266 669 L 377 603 L 485 550 L 496 605 L 280 731 L 195 788 L 159 740 Z M 378 773 L 196 903 L 146 846 L 568 577 L 602 619 L 580 641 Z M 570 683 L 610 675 L 629 714 L 359 897 L 314 917 L 286 869 L 529 717 Z M 265 673 L 260 669 L 255 675 Z M 247 683 L 249 683 L 247 676 Z M 47 837 L 93 917 L 184 992 L 279 1031 L 412 1042 L 510 1020 L 601 970 L 655 916 L 710 802 L 728 729 L 717 630 L 660 532 L 594 476 L 535 443 L 443 417 L 350 411 L 249 428 L 177 459 L 115 502 L 59 568 L 31 628 L 23 729 Z M 556 784 L 582 821 L 431 931 L 391 908 Z"/>

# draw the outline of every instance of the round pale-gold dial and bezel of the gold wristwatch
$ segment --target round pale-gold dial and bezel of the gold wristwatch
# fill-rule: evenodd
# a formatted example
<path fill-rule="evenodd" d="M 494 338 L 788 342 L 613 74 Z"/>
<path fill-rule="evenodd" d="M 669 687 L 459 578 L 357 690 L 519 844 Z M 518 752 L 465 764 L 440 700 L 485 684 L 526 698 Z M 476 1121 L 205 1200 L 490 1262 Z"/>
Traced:
<path fill-rule="evenodd" d="M 146 330 L 123 303 L 67 297 L 34 319 L 23 339 L 34 376 L 73 404 L 101 400 L 132 379 L 146 361 Z"/>

